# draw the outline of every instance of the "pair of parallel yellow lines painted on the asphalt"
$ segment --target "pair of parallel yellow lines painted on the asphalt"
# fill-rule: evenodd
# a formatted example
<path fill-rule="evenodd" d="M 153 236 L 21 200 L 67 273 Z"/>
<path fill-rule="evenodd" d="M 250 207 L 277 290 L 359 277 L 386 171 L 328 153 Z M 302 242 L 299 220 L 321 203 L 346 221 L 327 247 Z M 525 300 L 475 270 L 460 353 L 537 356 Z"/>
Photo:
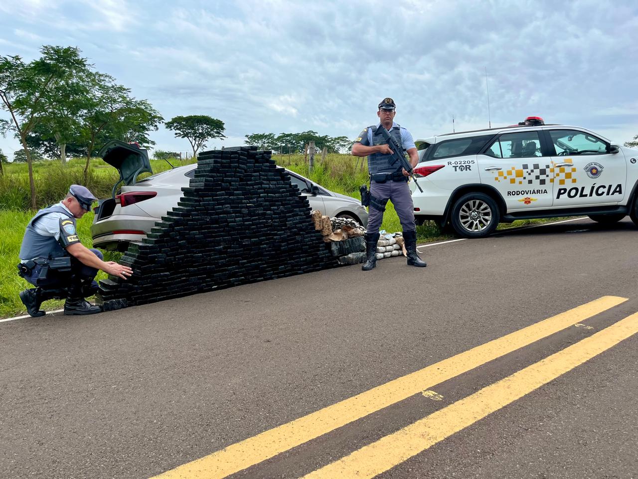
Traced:
<path fill-rule="evenodd" d="M 221 479 L 627 301 L 604 296 L 267 430 L 154 479 Z M 638 313 L 450 404 L 306 478 L 373 478 L 638 332 Z"/>

